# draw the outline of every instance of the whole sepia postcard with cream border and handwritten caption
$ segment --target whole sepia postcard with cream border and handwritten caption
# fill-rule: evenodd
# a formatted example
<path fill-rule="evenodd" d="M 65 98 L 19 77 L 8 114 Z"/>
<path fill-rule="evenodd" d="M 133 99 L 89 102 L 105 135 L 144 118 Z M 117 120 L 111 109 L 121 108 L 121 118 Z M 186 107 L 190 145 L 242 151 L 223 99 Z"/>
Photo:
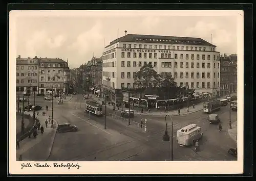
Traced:
<path fill-rule="evenodd" d="M 10 174 L 243 173 L 243 11 L 9 15 Z"/>

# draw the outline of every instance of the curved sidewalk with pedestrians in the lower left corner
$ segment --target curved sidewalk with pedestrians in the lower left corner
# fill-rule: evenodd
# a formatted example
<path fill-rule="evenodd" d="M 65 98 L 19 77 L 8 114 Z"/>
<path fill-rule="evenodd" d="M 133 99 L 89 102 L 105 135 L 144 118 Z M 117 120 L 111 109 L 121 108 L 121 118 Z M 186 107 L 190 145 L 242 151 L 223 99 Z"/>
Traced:
<path fill-rule="evenodd" d="M 50 156 L 56 134 L 57 122 L 54 120 L 53 128 L 51 124 L 48 124 L 48 127 L 46 127 L 45 121 L 46 119 L 48 120 L 49 115 L 46 113 L 46 116 L 42 116 L 43 111 L 45 110 L 38 111 L 39 115 L 36 115 L 36 118 L 40 121 L 40 124 L 44 126 L 44 134 L 41 134 L 41 132 L 37 130 L 38 135 L 36 138 L 34 138 L 32 134 L 31 138 L 25 138 L 20 141 L 19 149 L 16 149 L 17 160 L 20 155 L 22 155 L 23 161 L 46 161 Z M 49 110 L 48 113 L 50 113 Z"/>

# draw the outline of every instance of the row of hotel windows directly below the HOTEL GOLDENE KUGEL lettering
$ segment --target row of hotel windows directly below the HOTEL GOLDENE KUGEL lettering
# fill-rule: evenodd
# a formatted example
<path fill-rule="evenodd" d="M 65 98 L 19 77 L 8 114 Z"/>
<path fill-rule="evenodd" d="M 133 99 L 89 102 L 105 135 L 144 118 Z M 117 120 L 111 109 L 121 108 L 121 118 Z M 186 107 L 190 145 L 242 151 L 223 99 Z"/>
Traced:
<path fill-rule="evenodd" d="M 148 58 L 152 59 L 153 53 L 148 53 Z M 184 54 L 180 54 L 180 59 L 183 59 Z M 185 54 L 186 60 L 189 59 L 189 55 Z M 216 60 L 216 56 L 214 55 L 214 60 Z M 125 58 L 125 53 L 122 52 L 121 53 L 121 58 Z M 127 52 L 127 58 L 131 58 L 131 52 Z M 137 53 L 134 52 L 133 53 L 133 58 L 137 58 Z M 138 53 L 138 58 L 141 59 L 142 58 L 142 53 Z M 143 58 L 147 59 L 147 53 L 143 53 Z M 172 54 L 161 54 L 161 59 L 171 59 L 172 58 Z M 157 53 L 154 53 L 154 59 L 157 59 Z M 174 59 L 178 59 L 178 54 L 174 54 Z M 191 54 L 191 60 L 195 60 L 195 54 Z M 200 60 L 200 55 L 197 54 L 197 60 Z M 205 55 L 202 55 L 202 60 L 205 60 Z M 210 60 L 210 55 L 207 55 L 207 60 Z M 217 60 L 219 60 L 219 56 L 217 56 Z"/>

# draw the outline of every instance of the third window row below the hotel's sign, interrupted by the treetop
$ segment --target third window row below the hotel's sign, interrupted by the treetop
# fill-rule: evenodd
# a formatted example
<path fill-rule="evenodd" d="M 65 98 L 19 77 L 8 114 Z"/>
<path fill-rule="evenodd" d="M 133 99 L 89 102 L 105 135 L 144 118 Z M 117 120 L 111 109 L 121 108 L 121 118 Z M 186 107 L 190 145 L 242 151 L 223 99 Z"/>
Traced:
<path fill-rule="evenodd" d="M 105 72 L 105 73 L 108 73 L 108 72 Z M 114 74 L 110 74 L 110 75 L 114 75 L 114 77 L 113 76 L 111 76 L 111 77 L 115 78 L 116 77 L 116 72 L 112 72 L 112 73 L 114 73 Z M 166 77 L 168 75 L 170 75 L 170 72 L 161 72 L 161 77 Z M 180 79 L 183 79 L 183 77 L 184 77 L 183 75 L 184 75 L 184 73 L 180 72 Z M 218 76 L 218 78 L 220 77 L 219 72 L 218 72 L 217 76 Z M 121 78 L 124 79 L 124 77 L 125 77 L 125 73 L 121 72 Z M 133 79 L 135 79 L 135 77 L 136 77 L 136 72 L 133 72 Z M 177 72 L 174 72 L 174 77 L 178 78 L 178 73 Z M 185 77 L 186 77 L 186 79 L 188 79 L 188 72 L 185 72 Z M 194 72 L 190 73 L 190 77 L 192 79 L 194 79 Z M 197 79 L 199 79 L 199 78 L 200 78 L 200 73 L 197 72 Z M 205 72 L 202 72 L 202 78 L 203 79 L 205 78 Z M 210 79 L 210 73 L 209 72 L 207 72 L 207 78 Z M 214 78 L 216 78 L 216 73 L 215 72 L 214 72 Z M 131 79 L 131 72 L 127 72 L 127 79 Z"/>

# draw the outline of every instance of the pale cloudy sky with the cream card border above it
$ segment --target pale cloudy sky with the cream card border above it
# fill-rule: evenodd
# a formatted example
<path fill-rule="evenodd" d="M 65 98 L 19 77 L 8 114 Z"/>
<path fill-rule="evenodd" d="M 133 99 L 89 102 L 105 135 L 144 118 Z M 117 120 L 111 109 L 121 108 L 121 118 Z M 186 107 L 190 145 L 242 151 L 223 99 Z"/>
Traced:
<path fill-rule="evenodd" d="M 199 37 L 216 45 L 221 54 L 236 54 L 241 12 L 207 12 L 16 11 L 10 14 L 10 28 L 15 30 L 16 57 L 68 59 L 70 68 L 88 62 L 93 54 L 101 57 L 104 46 L 124 36 L 125 30 Z"/>

